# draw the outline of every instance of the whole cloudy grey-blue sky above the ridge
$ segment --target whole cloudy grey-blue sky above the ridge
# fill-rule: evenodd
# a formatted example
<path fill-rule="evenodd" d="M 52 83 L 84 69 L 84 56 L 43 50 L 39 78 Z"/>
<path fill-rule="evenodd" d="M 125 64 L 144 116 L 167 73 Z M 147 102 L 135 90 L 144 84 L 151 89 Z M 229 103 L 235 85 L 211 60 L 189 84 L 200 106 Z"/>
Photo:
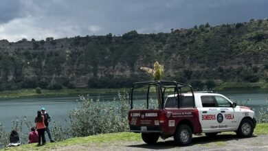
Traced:
<path fill-rule="evenodd" d="M 0 40 L 170 32 L 268 18 L 267 0 L 0 0 Z"/>

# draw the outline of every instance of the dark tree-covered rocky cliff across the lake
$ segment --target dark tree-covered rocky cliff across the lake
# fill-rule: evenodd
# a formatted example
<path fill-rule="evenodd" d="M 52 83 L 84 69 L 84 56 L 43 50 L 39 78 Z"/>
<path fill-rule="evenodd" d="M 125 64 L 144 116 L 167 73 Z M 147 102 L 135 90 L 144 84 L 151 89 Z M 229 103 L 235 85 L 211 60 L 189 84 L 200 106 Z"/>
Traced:
<path fill-rule="evenodd" d="M 171 33 L 0 40 L 0 90 L 122 87 L 150 77 L 139 67 L 164 65 L 166 80 L 265 80 L 268 21 Z"/>

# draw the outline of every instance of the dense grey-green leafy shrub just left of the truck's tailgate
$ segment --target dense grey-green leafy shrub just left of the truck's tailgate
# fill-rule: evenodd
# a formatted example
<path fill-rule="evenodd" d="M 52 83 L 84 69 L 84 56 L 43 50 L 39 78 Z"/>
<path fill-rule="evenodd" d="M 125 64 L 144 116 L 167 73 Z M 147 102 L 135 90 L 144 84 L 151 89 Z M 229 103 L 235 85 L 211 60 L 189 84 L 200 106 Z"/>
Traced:
<path fill-rule="evenodd" d="M 126 95 L 119 93 L 116 102 L 101 102 L 89 96 L 81 96 L 80 100 L 80 106 L 69 112 L 71 136 L 85 137 L 127 130 L 129 104 Z"/>

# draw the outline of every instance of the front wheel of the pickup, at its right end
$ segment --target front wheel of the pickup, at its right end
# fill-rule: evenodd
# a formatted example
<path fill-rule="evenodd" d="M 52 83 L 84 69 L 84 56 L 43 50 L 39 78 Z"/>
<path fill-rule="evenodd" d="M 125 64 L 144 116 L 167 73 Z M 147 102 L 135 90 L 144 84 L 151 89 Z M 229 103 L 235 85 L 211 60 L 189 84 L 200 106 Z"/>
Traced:
<path fill-rule="evenodd" d="M 251 137 L 253 134 L 254 126 L 253 122 L 249 119 L 243 119 L 236 131 L 238 137 Z"/>

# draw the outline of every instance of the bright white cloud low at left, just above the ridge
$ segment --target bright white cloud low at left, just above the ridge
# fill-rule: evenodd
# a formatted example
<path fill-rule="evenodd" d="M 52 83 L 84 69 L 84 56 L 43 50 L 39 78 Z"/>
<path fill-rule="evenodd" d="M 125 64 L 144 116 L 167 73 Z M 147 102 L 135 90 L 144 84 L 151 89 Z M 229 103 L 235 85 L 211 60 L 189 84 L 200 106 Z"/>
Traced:
<path fill-rule="evenodd" d="M 22 38 L 31 40 L 42 40 L 47 37 L 64 38 L 72 36 L 85 36 L 83 27 L 78 25 L 43 25 L 43 19 L 26 17 L 23 19 L 13 19 L 8 23 L 0 25 L 0 40 L 8 39 L 10 42 L 16 42 Z M 55 21 L 56 23 L 56 21 Z M 99 27 L 91 27 L 94 31 L 98 31 Z M 87 33 L 86 33 L 87 34 Z"/>

